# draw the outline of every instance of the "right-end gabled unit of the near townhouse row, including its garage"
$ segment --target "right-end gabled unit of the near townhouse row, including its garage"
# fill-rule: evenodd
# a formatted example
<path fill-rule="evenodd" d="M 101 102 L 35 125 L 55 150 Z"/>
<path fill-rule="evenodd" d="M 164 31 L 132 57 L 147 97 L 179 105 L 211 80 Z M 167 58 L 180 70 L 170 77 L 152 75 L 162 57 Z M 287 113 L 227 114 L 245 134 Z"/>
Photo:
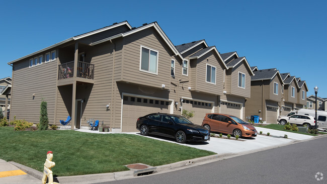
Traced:
<path fill-rule="evenodd" d="M 220 54 L 228 69 L 224 71 L 224 90 L 220 97 L 220 113 L 245 119 L 245 102 L 251 97 L 251 76 L 254 75 L 246 57 L 237 52 Z"/>

